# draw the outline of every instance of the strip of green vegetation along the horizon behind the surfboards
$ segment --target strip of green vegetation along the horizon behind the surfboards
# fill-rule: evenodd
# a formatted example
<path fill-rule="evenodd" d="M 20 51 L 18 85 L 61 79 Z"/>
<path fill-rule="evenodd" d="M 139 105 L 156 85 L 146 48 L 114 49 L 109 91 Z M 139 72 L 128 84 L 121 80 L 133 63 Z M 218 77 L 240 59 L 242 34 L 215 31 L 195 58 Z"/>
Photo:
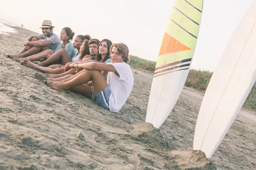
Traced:
<path fill-rule="evenodd" d="M 133 68 L 154 73 L 156 62 L 141 59 L 136 56 L 130 56 L 130 58 L 131 62 L 129 64 Z M 205 92 L 211 77 L 212 72 L 191 69 L 188 78 L 186 79 L 185 86 Z M 256 83 L 254 83 L 243 107 L 256 112 Z"/>

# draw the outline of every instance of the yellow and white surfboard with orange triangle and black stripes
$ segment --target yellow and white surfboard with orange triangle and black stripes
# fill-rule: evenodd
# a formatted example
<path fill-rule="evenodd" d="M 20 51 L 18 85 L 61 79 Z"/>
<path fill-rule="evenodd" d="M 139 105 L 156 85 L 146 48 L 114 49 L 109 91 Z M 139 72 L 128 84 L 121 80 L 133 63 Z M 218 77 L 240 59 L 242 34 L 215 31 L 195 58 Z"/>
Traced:
<path fill-rule="evenodd" d="M 145 122 L 159 128 L 171 113 L 189 74 L 203 0 L 175 0 L 152 80 Z"/>

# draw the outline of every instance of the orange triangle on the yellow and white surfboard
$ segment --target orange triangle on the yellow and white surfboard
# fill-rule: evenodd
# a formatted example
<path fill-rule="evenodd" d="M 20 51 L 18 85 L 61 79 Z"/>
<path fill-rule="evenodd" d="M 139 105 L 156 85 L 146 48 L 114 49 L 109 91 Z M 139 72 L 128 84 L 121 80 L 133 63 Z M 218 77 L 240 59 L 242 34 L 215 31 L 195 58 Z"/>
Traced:
<path fill-rule="evenodd" d="M 191 48 L 189 48 L 186 45 L 182 44 L 181 42 L 177 41 L 175 38 L 173 38 L 166 32 L 164 33 L 163 42 L 162 42 L 162 45 L 160 48 L 159 56 L 164 55 L 164 54 L 175 53 L 178 51 L 186 51 L 186 50 L 191 50 Z"/>

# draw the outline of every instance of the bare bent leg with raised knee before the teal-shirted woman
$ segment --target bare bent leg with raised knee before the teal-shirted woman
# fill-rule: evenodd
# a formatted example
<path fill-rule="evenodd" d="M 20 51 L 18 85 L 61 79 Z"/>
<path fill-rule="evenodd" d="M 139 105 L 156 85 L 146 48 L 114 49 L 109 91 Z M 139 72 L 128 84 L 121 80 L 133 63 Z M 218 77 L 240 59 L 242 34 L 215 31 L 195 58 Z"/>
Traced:
<path fill-rule="evenodd" d="M 53 62 L 61 61 L 62 65 L 65 65 L 68 62 L 71 62 L 70 57 L 68 56 L 67 52 L 64 50 L 64 48 L 59 49 L 54 54 L 51 55 L 47 60 L 38 63 L 38 65 L 44 66 L 44 65 L 50 65 Z"/>

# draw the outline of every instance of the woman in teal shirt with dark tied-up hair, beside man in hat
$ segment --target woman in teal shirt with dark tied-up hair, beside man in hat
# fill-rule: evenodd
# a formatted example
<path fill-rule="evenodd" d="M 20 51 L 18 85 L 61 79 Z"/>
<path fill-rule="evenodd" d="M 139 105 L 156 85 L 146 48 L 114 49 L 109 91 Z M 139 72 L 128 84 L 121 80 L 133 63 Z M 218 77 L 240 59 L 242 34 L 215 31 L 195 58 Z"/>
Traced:
<path fill-rule="evenodd" d="M 34 55 L 26 57 L 26 58 L 19 58 L 19 59 L 17 59 L 17 61 L 21 62 L 24 59 L 29 59 L 30 61 L 39 61 L 39 60 L 44 61 L 44 59 L 48 59 L 49 57 L 52 56 L 52 54 L 56 53 L 59 50 L 64 50 L 63 53 L 66 52 L 71 60 L 76 55 L 76 49 L 73 47 L 73 44 L 70 42 L 73 40 L 74 34 L 75 33 L 69 27 L 65 27 L 61 30 L 61 34 L 60 34 L 61 41 L 63 41 L 63 42 L 61 42 L 58 45 L 58 47 L 55 49 L 55 51 L 47 49 L 45 51 L 42 51 L 38 54 L 34 54 Z M 59 55 L 58 55 L 58 57 L 59 57 Z"/>

